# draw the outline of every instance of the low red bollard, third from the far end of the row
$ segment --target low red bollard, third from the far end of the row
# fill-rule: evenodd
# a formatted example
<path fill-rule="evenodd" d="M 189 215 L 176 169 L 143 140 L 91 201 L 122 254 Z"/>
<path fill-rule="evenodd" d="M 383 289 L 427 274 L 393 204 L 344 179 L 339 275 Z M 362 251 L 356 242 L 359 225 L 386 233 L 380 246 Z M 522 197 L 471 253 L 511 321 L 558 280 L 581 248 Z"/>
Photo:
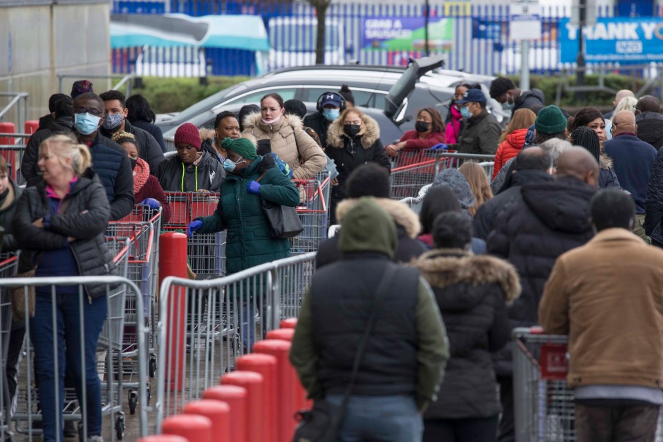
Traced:
<path fill-rule="evenodd" d="M 270 354 L 277 358 L 277 394 L 281 406 L 277 411 L 279 442 L 292 441 L 297 422 L 293 416 L 304 406 L 306 391 L 301 387 L 297 372 L 290 364 L 291 344 L 281 339 L 260 340 L 253 346 L 254 354 Z"/>

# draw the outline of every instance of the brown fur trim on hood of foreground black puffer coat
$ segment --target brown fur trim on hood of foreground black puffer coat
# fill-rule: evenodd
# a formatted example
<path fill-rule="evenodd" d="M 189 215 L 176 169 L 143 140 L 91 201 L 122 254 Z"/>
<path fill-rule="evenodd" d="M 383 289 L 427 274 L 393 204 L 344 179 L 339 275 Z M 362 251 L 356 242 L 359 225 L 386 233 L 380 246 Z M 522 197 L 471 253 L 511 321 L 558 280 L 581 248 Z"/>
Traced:
<path fill-rule="evenodd" d="M 424 253 L 412 265 L 420 269 L 432 287 L 444 288 L 462 282 L 472 286 L 497 283 L 507 304 L 521 295 L 516 269 L 492 256 L 475 256 L 460 249 L 436 249 Z"/>

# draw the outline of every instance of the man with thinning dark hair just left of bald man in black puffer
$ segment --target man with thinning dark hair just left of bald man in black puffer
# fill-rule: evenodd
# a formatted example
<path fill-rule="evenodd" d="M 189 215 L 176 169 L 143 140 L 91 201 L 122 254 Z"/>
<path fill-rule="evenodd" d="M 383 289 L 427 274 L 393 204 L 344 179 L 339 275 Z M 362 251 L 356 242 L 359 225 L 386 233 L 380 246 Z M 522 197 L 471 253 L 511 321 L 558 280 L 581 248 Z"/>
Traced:
<path fill-rule="evenodd" d="M 514 162 L 514 173 L 509 189 L 503 190 L 487 200 L 476 211 L 473 220 L 474 236 L 486 240 L 493 231 L 495 218 L 521 193 L 525 184 L 552 181 L 552 158 L 539 146 L 523 149 Z"/>

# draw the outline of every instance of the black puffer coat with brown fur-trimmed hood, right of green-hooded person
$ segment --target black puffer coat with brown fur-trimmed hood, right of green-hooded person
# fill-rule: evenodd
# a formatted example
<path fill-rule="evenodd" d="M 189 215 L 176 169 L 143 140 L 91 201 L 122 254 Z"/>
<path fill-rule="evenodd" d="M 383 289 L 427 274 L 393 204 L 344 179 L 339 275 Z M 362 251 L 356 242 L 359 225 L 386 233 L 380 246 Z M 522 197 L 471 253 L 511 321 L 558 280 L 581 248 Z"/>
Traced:
<path fill-rule="evenodd" d="M 415 263 L 435 293 L 449 337 L 449 363 L 438 400 L 424 419 L 496 416 L 491 352 L 511 337 L 507 302 L 521 292 L 512 265 L 492 256 L 474 256 L 458 249 L 436 249 Z"/>

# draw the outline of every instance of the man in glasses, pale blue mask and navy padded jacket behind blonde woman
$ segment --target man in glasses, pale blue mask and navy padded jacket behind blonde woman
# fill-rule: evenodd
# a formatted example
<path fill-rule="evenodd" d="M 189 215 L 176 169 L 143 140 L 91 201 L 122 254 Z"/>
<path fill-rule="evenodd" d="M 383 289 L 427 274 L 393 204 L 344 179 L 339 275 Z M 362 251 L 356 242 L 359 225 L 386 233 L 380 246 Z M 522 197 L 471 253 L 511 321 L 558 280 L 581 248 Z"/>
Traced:
<path fill-rule="evenodd" d="M 99 132 L 105 116 L 104 101 L 99 95 L 88 92 L 74 99 L 74 131 L 78 141 L 90 149 L 93 170 L 104 184 L 111 203 L 110 221 L 115 221 L 133 209 L 133 171 L 122 146 Z"/>

